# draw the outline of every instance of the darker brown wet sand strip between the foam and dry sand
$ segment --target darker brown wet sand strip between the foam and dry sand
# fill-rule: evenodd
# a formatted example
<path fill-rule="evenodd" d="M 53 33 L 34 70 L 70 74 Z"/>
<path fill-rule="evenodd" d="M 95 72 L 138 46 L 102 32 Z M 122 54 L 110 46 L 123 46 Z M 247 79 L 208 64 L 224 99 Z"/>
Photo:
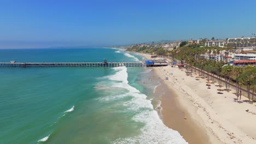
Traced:
<path fill-rule="evenodd" d="M 188 143 L 210 143 L 206 130 L 179 105 L 177 94 L 172 89 L 161 82 L 154 95 L 161 99 L 159 114 L 168 128 L 179 131 Z"/>

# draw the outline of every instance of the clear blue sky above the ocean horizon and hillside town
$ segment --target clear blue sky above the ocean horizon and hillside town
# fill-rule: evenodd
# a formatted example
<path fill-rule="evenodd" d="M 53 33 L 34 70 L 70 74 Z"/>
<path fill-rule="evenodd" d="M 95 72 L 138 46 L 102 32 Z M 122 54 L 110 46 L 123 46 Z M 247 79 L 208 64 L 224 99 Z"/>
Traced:
<path fill-rule="evenodd" d="M 251 37 L 255 8 L 255 0 L 0 0 L 0 49 Z"/>

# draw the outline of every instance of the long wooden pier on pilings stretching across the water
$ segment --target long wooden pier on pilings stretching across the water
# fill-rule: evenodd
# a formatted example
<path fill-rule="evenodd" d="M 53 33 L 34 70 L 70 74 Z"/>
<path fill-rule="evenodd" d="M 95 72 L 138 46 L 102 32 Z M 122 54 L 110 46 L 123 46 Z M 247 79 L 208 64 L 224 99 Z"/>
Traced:
<path fill-rule="evenodd" d="M 98 62 L 98 63 L 0 63 L 0 67 L 145 67 L 145 63 L 131 63 L 131 62 Z"/>

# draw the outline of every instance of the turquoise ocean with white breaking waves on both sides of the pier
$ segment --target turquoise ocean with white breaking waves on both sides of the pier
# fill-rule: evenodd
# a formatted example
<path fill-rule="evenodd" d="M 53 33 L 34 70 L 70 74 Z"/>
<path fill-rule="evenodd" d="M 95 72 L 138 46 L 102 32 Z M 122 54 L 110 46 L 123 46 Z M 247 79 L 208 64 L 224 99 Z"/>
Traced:
<path fill-rule="evenodd" d="M 0 62 L 139 62 L 117 49 L 0 50 Z M 186 143 L 146 67 L 0 68 L 0 143 Z"/>

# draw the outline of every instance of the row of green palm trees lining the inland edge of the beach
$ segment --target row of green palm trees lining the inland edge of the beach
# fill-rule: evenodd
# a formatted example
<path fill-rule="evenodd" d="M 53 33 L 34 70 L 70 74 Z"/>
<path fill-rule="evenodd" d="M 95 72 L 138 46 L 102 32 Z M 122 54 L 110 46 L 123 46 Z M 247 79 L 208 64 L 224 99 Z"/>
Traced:
<path fill-rule="evenodd" d="M 200 71 L 199 74 L 203 77 L 205 77 L 205 73 L 207 73 L 208 79 L 210 78 L 209 76 L 214 79 L 213 75 L 217 75 L 219 86 L 222 86 L 222 78 L 224 78 L 226 86 L 225 90 L 228 92 L 230 89 L 231 75 L 235 75 L 237 99 L 240 96 L 241 101 L 241 87 L 246 86 L 249 103 L 253 103 L 256 73 L 245 76 L 243 75 L 241 77 L 243 74 L 243 68 L 229 65 L 227 59 L 217 58 L 216 61 L 212 61 L 202 57 L 206 53 L 210 57 L 211 53 L 213 53 L 213 55 L 219 55 L 221 52 L 224 53 L 224 55 L 227 57 L 231 51 L 232 49 L 230 47 L 198 47 L 195 49 L 181 47 L 180 49 L 171 51 L 169 56 L 171 56 L 173 59 L 179 59 L 181 63 L 187 63 L 187 65 L 189 65 L 189 69 L 192 72 L 196 71 L 196 69 L 199 69 L 201 71 L 201 74 Z M 252 100 L 250 99 L 250 89 L 253 91 Z"/>

